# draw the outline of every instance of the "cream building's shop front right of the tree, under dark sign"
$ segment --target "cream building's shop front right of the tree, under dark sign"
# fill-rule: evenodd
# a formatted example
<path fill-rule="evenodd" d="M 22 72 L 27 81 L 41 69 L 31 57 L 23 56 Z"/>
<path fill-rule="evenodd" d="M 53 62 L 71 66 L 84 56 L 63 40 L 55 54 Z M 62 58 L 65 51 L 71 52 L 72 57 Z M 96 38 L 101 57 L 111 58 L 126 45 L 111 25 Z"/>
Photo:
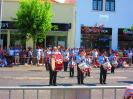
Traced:
<path fill-rule="evenodd" d="M 66 23 L 52 23 L 52 25 L 55 25 L 58 27 L 58 29 L 54 30 L 52 29 L 51 32 L 47 34 L 46 37 L 46 47 L 52 47 L 52 46 L 63 46 L 67 47 L 67 39 L 68 39 L 68 31 L 71 29 L 71 24 Z"/>

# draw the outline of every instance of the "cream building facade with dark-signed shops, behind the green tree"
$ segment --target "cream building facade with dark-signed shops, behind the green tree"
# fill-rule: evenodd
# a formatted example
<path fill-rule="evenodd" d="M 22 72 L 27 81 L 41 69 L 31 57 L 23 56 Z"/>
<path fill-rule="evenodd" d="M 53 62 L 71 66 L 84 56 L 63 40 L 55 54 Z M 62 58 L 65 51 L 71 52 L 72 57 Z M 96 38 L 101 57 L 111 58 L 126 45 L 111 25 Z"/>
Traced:
<path fill-rule="evenodd" d="M 58 0 L 59 1 L 59 0 Z M 52 3 L 53 17 L 52 24 L 58 26 L 58 30 L 47 33 L 46 46 L 62 45 L 64 47 L 75 47 L 76 31 L 76 8 L 74 2 Z M 71 1 L 71 0 L 70 0 Z M 66 3 L 65 3 L 66 2 Z M 19 9 L 19 0 L 4 0 L 2 5 L 2 26 L 1 26 L 1 45 L 3 47 L 21 45 L 22 37 L 18 29 L 13 25 L 12 18 L 16 17 Z M 43 44 L 44 44 L 43 42 Z M 24 44 L 23 44 L 24 45 Z M 32 39 L 26 41 L 26 47 L 33 46 Z"/>

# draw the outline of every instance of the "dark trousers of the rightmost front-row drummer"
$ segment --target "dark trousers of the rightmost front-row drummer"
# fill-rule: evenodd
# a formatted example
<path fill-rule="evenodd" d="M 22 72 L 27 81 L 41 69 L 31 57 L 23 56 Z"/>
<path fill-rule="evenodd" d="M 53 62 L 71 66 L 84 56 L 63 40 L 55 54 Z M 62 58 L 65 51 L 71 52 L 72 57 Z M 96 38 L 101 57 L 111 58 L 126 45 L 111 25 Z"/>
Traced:
<path fill-rule="evenodd" d="M 103 66 L 100 67 L 100 83 L 105 84 L 106 83 L 106 76 L 107 76 L 107 70 L 103 68 Z"/>

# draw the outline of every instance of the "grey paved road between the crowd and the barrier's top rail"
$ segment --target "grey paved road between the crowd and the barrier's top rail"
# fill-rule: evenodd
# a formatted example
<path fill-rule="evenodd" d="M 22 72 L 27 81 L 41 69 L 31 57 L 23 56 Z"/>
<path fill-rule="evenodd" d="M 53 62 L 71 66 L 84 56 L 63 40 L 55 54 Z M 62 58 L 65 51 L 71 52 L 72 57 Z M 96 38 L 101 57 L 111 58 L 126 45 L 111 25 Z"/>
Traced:
<path fill-rule="evenodd" d="M 58 85 L 77 85 L 77 77 L 70 78 L 69 72 L 58 72 Z M 118 68 L 115 74 L 107 75 L 106 85 L 133 84 L 133 68 Z M 44 67 L 15 66 L 0 68 L 0 86 L 48 85 L 49 72 Z M 99 84 L 99 69 L 93 68 L 90 77 L 85 77 L 85 85 L 101 86 Z"/>

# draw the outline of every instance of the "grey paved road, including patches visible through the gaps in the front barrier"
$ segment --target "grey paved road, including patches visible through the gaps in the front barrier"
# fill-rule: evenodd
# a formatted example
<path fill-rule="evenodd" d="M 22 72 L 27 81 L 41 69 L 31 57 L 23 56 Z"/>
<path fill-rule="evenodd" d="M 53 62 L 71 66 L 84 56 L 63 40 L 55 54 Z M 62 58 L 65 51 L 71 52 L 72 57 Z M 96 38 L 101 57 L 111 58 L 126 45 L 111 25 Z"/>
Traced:
<path fill-rule="evenodd" d="M 107 84 L 104 86 L 123 86 L 133 84 L 133 68 L 118 68 L 115 74 L 107 75 Z M 11 68 L 0 68 L 0 86 L 40 86 L 48 85 L 49 73 L 44 67 L 37 66 L 15 66 Z M 77 85 L 76 72 L 75 77 L 70 78 L 69 72 L 58 72 L 58 86 L 79 86 Z M 103 86 L 99 84 L 99 69 L 93 68 L 90 77 L 85 77 L 83 86 Z M 37 99 L 36 91 L 26 91 L 25 99 Z M 50 91 L 39 91 L 39 99 L 50 99 Z M 112 90 L 106 90 L 104 99 L 114 99 Z M 122 99 L 124 90 L 117 92 L 116 99 Z M 0 99 L 9 99 L 9 92 L 0 90 Z M 101 90 L 92 92 L 92 99 L 102 99 Z M 98 98 L 97 98 L 98 97 Z M 10 99 L 23 99 L 22 91 L 12 91 Z M 62 98 L 59 98 L 62 99 Z M 71 99 L 71 98 L 70 98 Z M 88 98 L 86 98 L 88 99 Z"/>

